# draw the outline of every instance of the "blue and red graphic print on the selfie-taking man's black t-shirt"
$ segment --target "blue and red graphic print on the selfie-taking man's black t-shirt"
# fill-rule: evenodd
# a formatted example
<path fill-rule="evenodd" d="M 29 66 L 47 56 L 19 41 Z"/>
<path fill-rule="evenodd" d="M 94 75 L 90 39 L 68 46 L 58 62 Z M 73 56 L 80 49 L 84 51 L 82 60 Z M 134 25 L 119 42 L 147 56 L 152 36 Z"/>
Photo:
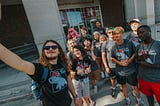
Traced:
<path fill-rule="evenodd" d="M 65 74 L 64 68 L 56 69 L 50 72 L 49 83 L 52 85 L 52 92 L 56 93 L 67 87 L 67 81 L 62 74 Z"/>

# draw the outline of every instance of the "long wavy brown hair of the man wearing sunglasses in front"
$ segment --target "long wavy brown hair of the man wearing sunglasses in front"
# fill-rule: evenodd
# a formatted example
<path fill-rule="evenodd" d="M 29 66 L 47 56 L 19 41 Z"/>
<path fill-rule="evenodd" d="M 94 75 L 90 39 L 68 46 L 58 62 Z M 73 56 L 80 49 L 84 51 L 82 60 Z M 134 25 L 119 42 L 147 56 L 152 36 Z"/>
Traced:
<path fill-rule="evenodd" d="M 42 53 L 41 53 L 41 55 L 40 55 L 40 57 L 38 59 L 38 63 L 42 64 L 43 66 L 47 66 L 47 67 L 49 67 L 50 70 L 52 70 L 51 64 L 49 63 L 49 61 L 48 61 L 48 59 L 47 59 L 47 57 L 45 55 L 45 52 L 44 52 L 44 46 L 48 42 L 55 43 L 58 46 L 58 50 L 59 50 L 60 54 L 58 55 L 58 61 L 57 61 L 57 63 L 65 64 L 67 70 L 69 70 L 69 64 L 68 64 L 69 60 L 68 60 L 66 54 L 64 53 L 62 47 L 60 46 L 60 44 L 58 42 L 56 42 L 55 40 L 47 40 L 47 41 L 45 41 L 45 43 L 42 46 Z"/>

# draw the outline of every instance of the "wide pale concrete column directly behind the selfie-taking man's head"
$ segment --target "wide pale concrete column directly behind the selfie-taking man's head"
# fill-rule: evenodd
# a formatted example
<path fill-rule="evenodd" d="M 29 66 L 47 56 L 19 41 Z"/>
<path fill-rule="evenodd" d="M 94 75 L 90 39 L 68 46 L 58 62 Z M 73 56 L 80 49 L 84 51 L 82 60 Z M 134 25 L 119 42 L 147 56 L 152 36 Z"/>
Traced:
<path fill-rule="evenodd" d="M 39 52 L 46 40 L 54 39 L 65 50 L 66 41 L 57 0 L 22 0 Z"/>

